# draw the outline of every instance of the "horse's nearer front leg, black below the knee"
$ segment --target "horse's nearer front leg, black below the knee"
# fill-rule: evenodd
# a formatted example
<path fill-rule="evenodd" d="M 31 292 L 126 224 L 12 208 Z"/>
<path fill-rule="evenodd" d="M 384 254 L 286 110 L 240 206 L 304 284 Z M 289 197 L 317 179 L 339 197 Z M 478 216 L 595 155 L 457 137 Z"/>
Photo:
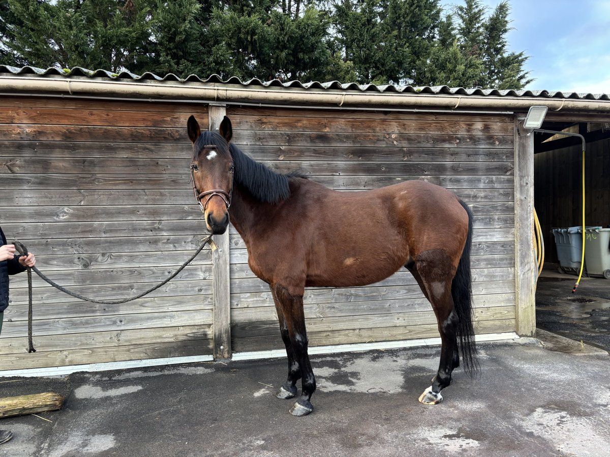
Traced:
<path fill-rule="evenodd" d="M 292 408 L 290 408 L 290 414 L 293 416 L 306 416 L 314 409 L 310 400 L 315 391 L 315 377 L 309 362 L 309 355 L 307 354 L 307 331 L 305 329 L 303 295 L 290 294 L 284 287 L 274 286 L 274 297 L 278 300 L 279 307 L 284 315 L 284 321 L 288 330 L 288 339 L 294 357 L 294 364 L 291 364 L 289 355 L 289 380 L 287 381 L 287 384 L 289 384 L 291 380 L 290 373 L 292 370 L 296 371 L 297 367 L 300 370 L 301 377 L 301 396 Z M 287 352 L 289 352 L 288 345 L 286 347 Z M 296 383 L 296 379 L 294 382 Z"/>

